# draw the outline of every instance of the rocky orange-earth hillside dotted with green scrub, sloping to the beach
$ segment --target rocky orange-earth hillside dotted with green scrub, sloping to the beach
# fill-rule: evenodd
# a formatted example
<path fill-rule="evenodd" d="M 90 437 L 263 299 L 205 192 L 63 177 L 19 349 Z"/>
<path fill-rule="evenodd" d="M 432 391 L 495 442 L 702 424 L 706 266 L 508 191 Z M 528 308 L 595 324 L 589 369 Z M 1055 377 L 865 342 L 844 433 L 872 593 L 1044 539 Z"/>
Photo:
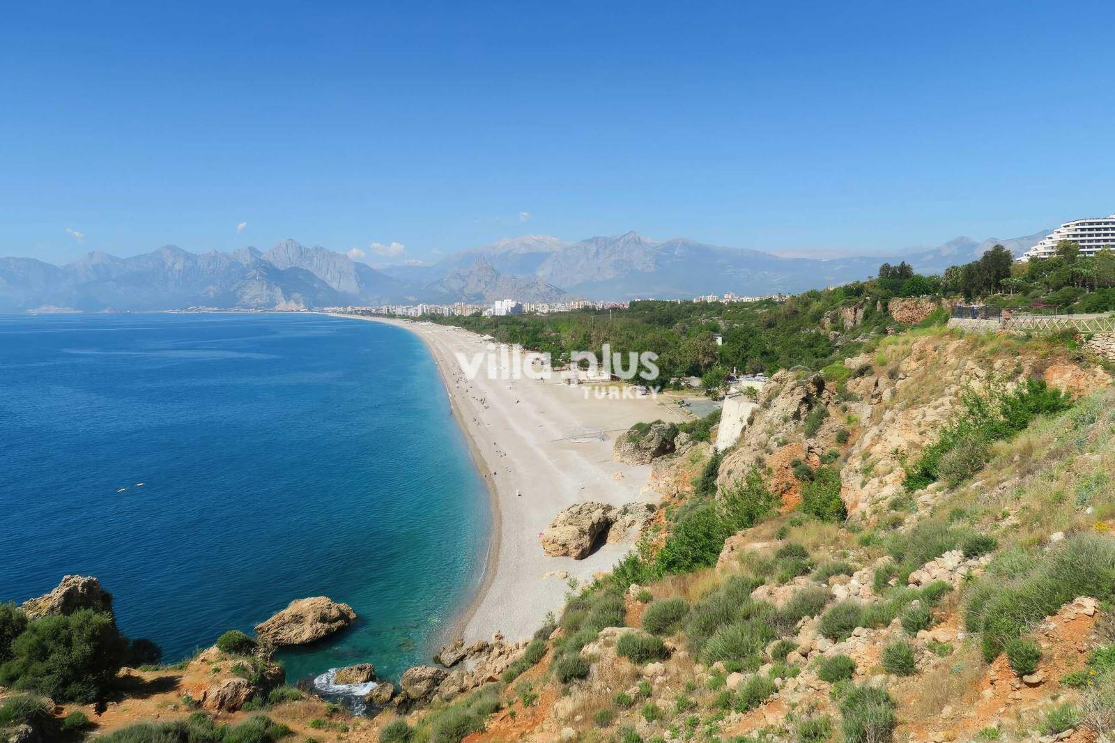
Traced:
<path fill-rule="evenodd" d="M 966 476 L 906 486 L 970 414 L 966 390 L 1029 380 L 1070 399 L 1044 396 L 1056 405 L 983 442 Z M 672 451 L 650 441 L 663 500 L 632 517 L 648 521 L 631 558 L 571 587 L 532 638 L 450 643 L 398 688 L 381 683 L 366 697 L 374 720 L 285 692 L 271 703 L 284 687 L 266 652 L 220 648 L 180 670 L 122 672 L 174 691 L 136 693 L 101 720 L 112 730 L 127 706 L 133 722 L 197 707 L 235 721 L 266 698 L 268 715 L 316 740 L 1103 740 L 1115 733 L 1111 383 L 1057 342 L 942 330 L 779 372 L 723 455 L 689 433 Z M 840 508 L 816 508 L 821 491 Z M 718 514 L 741 498 L 749 518 L 727 530 Z M 576 532 L 563 544 L 623 523 L 582 505 L 559 520 Z M 673 561 L 656 562 L 663 552 Z M 370 664 L 342 670 L 375 679 Z"/>

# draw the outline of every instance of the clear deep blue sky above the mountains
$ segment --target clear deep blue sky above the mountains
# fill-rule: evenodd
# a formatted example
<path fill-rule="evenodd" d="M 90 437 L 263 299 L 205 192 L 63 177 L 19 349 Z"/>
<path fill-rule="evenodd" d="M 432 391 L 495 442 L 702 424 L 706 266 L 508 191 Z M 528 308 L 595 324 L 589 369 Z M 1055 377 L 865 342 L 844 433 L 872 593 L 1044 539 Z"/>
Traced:
<path fill-rule="evenodd" d="M 0 70 L 0 255 L 51 262 L 878 253 L 1115 212 L 1101 3 L 9 3 Z"/>

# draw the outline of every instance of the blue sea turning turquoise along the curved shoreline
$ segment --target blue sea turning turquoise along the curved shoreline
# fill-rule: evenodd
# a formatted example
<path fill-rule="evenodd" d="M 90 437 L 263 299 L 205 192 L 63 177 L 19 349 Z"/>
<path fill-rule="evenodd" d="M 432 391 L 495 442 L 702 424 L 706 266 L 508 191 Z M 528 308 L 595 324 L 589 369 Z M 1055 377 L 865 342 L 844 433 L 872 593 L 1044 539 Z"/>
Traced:
<path fill-rule="evenodd" d="M 97 576 L 122 630 L 174 660 L 324 595 L 360 619 L 283 653 L 288 681 L 363 662 L 397 677 L 473 598 L 488 509 L 405 330 L 0 316 L 0 600 Z"/>

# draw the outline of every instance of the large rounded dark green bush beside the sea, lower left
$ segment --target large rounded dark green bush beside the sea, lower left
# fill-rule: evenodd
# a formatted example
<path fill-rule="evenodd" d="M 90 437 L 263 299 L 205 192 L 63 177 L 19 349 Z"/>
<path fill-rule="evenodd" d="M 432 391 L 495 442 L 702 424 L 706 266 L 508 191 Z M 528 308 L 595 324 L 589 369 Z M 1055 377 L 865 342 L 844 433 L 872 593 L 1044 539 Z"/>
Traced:
<path fill-rule="evenodd" d="M 127 658 L 128 644 L 107 614 L 89 609 L 30 623 L 0 666 L 0 685 L 56 702 L 103 698 Z"/>

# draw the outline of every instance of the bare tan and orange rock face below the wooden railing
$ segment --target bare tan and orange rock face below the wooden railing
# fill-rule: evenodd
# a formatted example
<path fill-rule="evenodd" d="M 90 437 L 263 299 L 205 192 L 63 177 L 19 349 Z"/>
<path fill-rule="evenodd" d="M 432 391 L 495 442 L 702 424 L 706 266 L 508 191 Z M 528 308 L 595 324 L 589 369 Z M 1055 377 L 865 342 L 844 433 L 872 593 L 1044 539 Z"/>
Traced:
<path fill-rule="evenodd" d="M 870 517 L 872 506 L 902 491 L 905 463 L 935 440 L 966 389 L 982 389 L 992 378 L 1010 386 L 1037 376 L 1079 397 L 1111 384 L 1102 367 L 1074 361 L 1066 351 L 939 332 L 888 339 L 843 367 L 827 380 L 823 374 L 775 374 L 726 454 L 719 485 L 730 486 L 756 465 L 773 465 L 776 475 L 788 461 L 815 466 L 836 452 L 849 514 Z M 772 480 L 792 505 L 801 483 Z"/>

